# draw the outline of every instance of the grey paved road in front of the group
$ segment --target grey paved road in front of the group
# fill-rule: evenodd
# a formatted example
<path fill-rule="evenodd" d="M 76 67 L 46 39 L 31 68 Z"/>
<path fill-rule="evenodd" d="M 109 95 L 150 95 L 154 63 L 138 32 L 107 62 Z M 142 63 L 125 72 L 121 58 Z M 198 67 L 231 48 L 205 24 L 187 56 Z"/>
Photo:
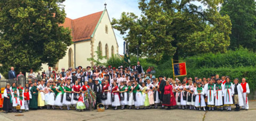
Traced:
<path fill-rule="evenodd" d="M 76 110 L 31 110 L 23 113 L 0 112 L 0 121 L 42 121 L 42 120 L 74 120 L 74 121 L 127 121 L 127 120 L 189 120 L 189 121 L 253 121 L 256 120 L 256 101 L 249 102 L 250 110 L 233 111 L 198 111 L 198 110 L 97 110 L 78 112 Z M 15 116 L 22 114 L 23 116 Z"/>

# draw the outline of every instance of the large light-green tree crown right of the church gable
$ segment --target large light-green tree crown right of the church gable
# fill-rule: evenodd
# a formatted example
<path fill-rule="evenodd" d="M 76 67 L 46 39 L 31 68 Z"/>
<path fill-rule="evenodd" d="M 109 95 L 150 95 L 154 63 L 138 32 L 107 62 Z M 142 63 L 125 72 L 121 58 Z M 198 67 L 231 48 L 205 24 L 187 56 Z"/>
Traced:
<path fill-rule="evenodd" d="M 201 2 L 206 9 L 196 6 Z M 221 16 L 222 0 L 139 0 L 140 18 L 123 12 L 113 18 L 113 28 L 129 43 L 130 52 L 154 58 L 191 56 L 198 53 L 226 52 L 230 43 L 231 22 Z"/>

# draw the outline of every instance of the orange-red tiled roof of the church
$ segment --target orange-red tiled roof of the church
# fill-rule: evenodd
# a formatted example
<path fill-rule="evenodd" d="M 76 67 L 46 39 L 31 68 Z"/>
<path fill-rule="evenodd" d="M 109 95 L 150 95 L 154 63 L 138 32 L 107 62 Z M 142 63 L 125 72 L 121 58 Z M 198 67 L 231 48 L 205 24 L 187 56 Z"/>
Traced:
<path fill-rule="evenodd" d="M 100 11 L 76 19 L 65 18 L 65 22 L 60 24 L 60 26 L 72 29 L 71 35 L 73 37 L 73 42 L 90 39 L 97 27 L 102 13 L 103 11 Z"/>

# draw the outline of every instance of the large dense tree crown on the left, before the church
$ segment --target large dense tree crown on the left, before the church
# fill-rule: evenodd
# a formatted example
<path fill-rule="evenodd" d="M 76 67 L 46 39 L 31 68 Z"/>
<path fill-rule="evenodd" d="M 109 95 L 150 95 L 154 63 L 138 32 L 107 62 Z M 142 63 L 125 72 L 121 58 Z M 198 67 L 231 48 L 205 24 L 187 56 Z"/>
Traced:
<path fill-rule="evenodd" d="M 0 1 L 0 72 L 10 67 L 28 72 L 53 66 L 72 44 L 71 31 L 59 26 L 65 21 L 64 0 Z"/>

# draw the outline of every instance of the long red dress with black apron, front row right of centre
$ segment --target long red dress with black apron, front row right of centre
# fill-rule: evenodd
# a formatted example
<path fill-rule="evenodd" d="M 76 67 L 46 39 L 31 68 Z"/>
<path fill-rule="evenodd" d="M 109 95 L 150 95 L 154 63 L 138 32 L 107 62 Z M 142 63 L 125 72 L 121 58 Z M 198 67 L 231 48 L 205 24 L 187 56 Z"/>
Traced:
<path fill-rule="evenodd" d="M 170 85 L 170 84 L 164 86 L 163 105 L 165 105 L 165 106 L 175 106 L 176 105 L 175 96 L 172 92 L 172 85 Z"/>

